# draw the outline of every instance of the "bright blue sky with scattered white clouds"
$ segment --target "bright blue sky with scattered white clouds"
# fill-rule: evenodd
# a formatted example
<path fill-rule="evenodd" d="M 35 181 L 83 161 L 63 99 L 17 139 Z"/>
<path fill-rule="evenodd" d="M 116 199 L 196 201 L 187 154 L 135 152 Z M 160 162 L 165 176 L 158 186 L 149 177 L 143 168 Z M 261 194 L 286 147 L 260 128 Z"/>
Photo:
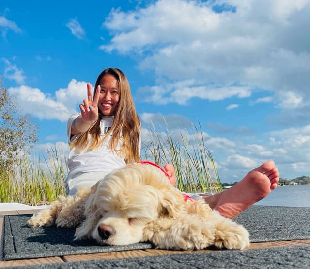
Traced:
<path fill-rule="evenodd" d="M 0 75 L 39 127 L 33 154 L 66 148 L 86 83 L 118 67 L 143 141 L 163 118 L 176 134 L 200 123 L 222 182 L 269 159 L 291 179 L 310 175 L 309 14 L 309 0 L 1 0 Z"/>

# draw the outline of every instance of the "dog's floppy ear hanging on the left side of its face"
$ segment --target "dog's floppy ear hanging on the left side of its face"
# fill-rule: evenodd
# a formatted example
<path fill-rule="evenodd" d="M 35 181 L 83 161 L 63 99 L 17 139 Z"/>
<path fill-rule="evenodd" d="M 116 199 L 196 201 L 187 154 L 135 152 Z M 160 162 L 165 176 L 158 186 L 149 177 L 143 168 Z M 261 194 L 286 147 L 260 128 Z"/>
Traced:
<path fill-rule="evenodd" d="M 91 238 L 91 231 L 93 231 L 93 228 L 101 218 L 101 215 L 94 203 L 97 186 L 98 183 L 92 187 L 91 193 L 85 202 L 84 216 L 86 219 L 76 229 L 74 240 Z"/>

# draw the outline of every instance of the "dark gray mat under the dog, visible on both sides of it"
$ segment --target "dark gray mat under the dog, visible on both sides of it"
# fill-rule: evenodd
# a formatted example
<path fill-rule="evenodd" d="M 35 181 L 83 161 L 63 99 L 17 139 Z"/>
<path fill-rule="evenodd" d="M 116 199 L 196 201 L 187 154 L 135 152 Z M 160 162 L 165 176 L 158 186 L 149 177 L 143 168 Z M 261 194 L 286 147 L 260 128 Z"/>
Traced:
<path fill-rule="evenodd" d="M 309 216 L 310 208 L 252 206 L 234 220 L 248 229 L 251 242 L 265 242 L 310 239 Z M 30 217 L 5 216 L 3 260 L 152 248 L 145 243 L 98 246 L 93 241 L 73 241 L 74 229 L 29 228 Z"/>

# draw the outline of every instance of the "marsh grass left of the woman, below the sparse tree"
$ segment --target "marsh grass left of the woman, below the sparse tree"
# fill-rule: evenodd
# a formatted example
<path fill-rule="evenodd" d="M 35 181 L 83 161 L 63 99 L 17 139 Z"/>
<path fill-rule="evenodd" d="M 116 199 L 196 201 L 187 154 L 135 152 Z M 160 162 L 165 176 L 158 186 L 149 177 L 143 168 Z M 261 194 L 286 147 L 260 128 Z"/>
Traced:
<path fill-rule="evenodd" d="M 44 162 L 20 158 L 13 170 L 0 168 L 0 202 L 37 205 L 65 194 L 66 159 L 58 150 L 45 152 Z M 43 164 L 43 167 L 41 166 Z"/>

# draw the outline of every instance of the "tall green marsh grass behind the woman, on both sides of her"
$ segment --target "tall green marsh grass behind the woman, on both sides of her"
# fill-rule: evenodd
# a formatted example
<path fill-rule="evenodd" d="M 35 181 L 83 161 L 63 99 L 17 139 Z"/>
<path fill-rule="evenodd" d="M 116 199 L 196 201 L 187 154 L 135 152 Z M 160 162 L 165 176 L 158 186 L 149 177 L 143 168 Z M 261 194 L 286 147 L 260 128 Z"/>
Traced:
<path fill-rule="evenodd" d="M 177 177 L 176 185 L 184 192 L 218 192 L 222 190 L 216 163 L 204 144 L 201 130 L 194 134 L 169 130 L 162 139 L 151 131 L 151 139 L 144 145 L 141 159 L 164 166 L 172 163 Z M 57 149 L 49 149 L 43 157 L 31 161 L 19 159 L 13 170 L 0 168 L 0 202 L 18 202 L 29 205 L 51 202 L 65 195 L 64 180 L 68 173 L 66 156 Z"/>

